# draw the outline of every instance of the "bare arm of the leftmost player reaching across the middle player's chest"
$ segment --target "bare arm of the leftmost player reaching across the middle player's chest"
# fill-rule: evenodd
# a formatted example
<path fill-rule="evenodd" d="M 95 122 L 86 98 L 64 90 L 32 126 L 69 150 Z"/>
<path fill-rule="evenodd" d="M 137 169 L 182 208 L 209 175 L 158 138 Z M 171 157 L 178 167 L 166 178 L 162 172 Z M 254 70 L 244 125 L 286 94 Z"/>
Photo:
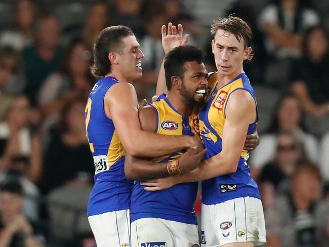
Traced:
<path fill-rule="evenodd" d="M 133 85 L 120 82 L 108 89 L 104 98 L 105 114 L 113 120 L 125 150 L 133 156 L 156 157 L 184 148 L 202 148 L 197 138 L 162 136 L 141 129 L 138 101 Z"/>

